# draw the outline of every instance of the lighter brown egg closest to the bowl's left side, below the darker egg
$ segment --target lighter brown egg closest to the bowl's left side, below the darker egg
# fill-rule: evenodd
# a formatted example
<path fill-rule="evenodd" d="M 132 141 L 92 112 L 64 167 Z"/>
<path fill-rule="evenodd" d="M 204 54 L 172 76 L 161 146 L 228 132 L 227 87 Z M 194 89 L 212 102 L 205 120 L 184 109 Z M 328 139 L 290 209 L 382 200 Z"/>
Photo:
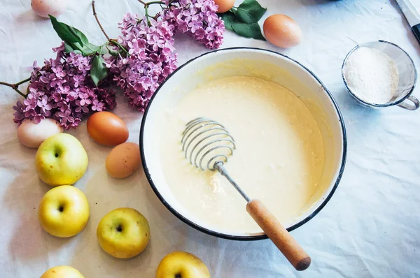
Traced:
<path fill-rule="evenodd" d="M 136 143 L 125 142 L 114 147 L 106 156 L 106 172 L 111 177 L 128 177 L 139 168 L 140 147 Z"/>

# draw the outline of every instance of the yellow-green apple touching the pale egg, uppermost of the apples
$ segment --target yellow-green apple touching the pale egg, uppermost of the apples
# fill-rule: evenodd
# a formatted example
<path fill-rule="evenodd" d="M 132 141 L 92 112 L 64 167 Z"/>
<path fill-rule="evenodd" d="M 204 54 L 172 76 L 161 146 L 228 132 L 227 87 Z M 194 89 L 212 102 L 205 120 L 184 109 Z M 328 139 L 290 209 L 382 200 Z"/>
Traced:
<path fill-rule="evenodd" d="M 59 133 L 38 147 L 35 164 L 43 182 L 52 186 L 73 184 L 86 172 L 87 154 L 74 136 Z"/>

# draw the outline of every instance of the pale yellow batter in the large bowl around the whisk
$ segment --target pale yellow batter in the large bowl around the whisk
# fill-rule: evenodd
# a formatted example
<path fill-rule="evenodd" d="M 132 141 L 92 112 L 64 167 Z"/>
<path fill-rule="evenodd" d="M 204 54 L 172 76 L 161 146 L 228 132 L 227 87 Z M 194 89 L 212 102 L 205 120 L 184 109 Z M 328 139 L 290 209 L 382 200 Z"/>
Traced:
<path fill-rule="evenodd" d="M 225 167 L 251 199 L 262 200 L 284 225 L 302 213 L 321 178 L 324 149 L 297 96 L 258 78 L 222 78 L 187 93 L 165 116 L 160 162 L 174 196 L 209 226 L 255 233 L 260 228 L 233 186 L 183 157 L 181 133 L 196 117 L 221 122 L 235 137 L 237 150 Z"/>

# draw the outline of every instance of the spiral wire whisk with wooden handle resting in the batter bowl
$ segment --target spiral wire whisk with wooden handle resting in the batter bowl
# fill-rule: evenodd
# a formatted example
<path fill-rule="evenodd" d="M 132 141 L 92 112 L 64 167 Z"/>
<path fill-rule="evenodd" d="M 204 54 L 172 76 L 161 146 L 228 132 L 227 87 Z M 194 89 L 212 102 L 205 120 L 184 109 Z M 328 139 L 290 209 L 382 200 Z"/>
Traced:
<path fill-rule="evenodd" d="M 186 124 L 181 145 L 186 159 L 193 166 L 201 170 L 217 170 L 235 186 L 235 189 L 246 200 L 246 211 L 296 270 L 309 268 L 311 258 L 286 228 L 260 200 L 251 200 L 230 177 L 224 165 L 228 162 L 229 156 L 234 154 L 236 143 L 225 126 L 204 117 L 193 119 Z"/>

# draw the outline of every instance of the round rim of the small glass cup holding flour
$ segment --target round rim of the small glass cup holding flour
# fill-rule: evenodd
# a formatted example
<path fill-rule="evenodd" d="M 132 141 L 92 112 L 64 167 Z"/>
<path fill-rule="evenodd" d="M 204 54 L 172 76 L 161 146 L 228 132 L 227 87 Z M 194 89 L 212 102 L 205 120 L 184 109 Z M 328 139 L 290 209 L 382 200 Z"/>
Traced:
<path fill-rule="evenodd" d="M 363 99 L 359 98 L 358 96 L 356 96 L 356 94 L 354 94 L 353 92 L 351 92 L 351 89 L 349 88 L 349 85 L 347 84 L 346 78 L 344 76 L 344 67 L 346 66 L 347 60 L 349 59 L 349 57 L 351 56 L 351 54 L 353 54 L 353 52 L 355 52 L 359 47 L 363 47 L 364 45 L 367 45 L 369 43 L 387 43 L 389 45 L 393 45 L 393 47 L 397 47 L 399 50 L 401 50 L 402 52 L 404 52 L 409 61 L 411 61 L 411 64 L 414 68 L 414 81 L 413 81 L 413 85 L 411 87 L 411 89 L 409 90 L 408 94 L 406 94 L 403 98 L 401 98 L 399 101 L 394 101 L 392 103 L 384 103 L 384 104 L 378 104 L 378 103 L 370 103 L 367 101 L 363 101 Z M 379 41 L 369 41 L 367 43 L 360 43 L 358 45 L 356 45 L 355 47 L 353 47 L 349 53 L 346 54 L 346 57 L 344 58 L 343 64 L 342 64 L 342 79 L 344 81 L 344 85 L 346 86 L 347 92 L 349 92 L 349 94 L 351 96 L 353 96 L 353 98 L 355 98 L 357 101 L 359 101 L 360 103 L 363 103 L 364 105 L 370 106 L 370 107 L 374 107 L 374 108 L 380 108 L 380 107 L 388 107 L 388 106 L 393 106 L 393 105 L 397 105 L 399 103 L 402 103 L 402 101 L 405 101 L 407 98 L 409 98 L 409 96 L 412 95 L 412 93 L 414 92 L 414 89 L 416 87 L 416 83 L 417 83 L 417 70 L 416 70 L 416 65 L 414 64 L 414 61 L 412 59 L 411 56 L 409 56 L 409 54 L 403 50 L 399 45 L 395 44 L 395 43 L 391 43 L 389 41 L 383 41 L 383 40 L 379 40 Z"/>

